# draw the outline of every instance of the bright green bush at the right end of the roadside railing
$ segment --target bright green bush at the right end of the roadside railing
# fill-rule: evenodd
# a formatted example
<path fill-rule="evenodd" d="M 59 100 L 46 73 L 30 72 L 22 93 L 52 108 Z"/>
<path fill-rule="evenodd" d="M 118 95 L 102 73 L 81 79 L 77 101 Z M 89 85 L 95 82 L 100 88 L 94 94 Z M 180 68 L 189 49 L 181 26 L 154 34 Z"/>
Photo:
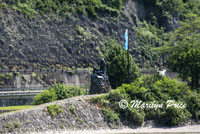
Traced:
<path fill-rule="evenodd" d="M 32 102 L 33 105 L 40 105 L 57 100 L 55 91 L 44 90 L 42 93 L 36 95 Z"/>

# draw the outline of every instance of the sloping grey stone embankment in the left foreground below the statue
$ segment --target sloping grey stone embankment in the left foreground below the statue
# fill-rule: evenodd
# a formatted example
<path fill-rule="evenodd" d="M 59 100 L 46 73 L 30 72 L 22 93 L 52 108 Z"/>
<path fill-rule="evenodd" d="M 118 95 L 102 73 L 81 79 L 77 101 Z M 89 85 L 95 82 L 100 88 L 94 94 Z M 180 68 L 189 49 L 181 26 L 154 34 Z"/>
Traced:
<path fill-rule="evenodd" d="M 0 115 L 0 133 L 24 134 L 49 130 L 58 132 L 109 128 L 102 110 L 89 102 L 89 98 L 93 96 L 74 97 Z M 48 110 L 48 106 L 52 105 L 59 106 L 61 112 L 52 114 Z"/>

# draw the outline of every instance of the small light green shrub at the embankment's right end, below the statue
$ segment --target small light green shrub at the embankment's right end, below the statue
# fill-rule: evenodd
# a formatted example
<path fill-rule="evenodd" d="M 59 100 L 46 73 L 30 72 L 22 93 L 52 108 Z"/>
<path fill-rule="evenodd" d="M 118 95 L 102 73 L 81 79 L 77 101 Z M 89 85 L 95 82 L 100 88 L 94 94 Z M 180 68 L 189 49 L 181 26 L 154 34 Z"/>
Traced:
<path fill-rule="evenodd" d="M 112 124 L 119 124 L 120 122 L 119 115 L 116 114 L 113 110 L 104 108 L 102 109 L 102 111 L 106 121 Z"/>

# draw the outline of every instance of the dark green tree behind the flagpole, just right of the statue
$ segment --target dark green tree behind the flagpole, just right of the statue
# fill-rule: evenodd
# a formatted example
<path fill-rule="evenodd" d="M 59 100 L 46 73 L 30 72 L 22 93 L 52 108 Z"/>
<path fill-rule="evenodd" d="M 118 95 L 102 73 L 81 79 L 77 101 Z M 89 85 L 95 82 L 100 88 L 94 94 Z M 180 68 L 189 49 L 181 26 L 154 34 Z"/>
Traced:
<path fill-rule="evenodd" d="M 105 59 L 107 63 L 107 74 L 112 88 L 117 88 L 123 83 L 128 83 L 128 57 L 119 44 L 111 40 L 106 44 Z M 130 82 L 138 77 L 138 68 L 129 54 Z"/>

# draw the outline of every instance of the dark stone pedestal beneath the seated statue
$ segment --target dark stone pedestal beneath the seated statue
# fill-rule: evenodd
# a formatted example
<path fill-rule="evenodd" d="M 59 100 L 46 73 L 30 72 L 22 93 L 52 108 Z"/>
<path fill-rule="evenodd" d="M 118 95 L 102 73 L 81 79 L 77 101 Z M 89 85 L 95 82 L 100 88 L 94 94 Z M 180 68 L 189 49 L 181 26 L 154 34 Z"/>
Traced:
<path fill-rule="evenodd" d="M 90 94 L 108 93 L 110 90 L 111 86 L 106 74 L 92 74 Z"/>

